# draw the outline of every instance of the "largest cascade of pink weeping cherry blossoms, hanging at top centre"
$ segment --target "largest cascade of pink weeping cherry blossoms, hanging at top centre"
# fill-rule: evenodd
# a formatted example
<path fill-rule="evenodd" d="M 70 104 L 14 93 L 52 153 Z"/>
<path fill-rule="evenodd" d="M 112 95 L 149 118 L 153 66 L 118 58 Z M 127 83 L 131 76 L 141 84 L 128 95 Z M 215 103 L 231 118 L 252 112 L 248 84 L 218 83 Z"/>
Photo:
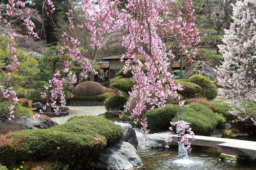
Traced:
<path fill-rule="evenodd" d="M 125 111 L 136 101 L 135 108 L 130 110 L 131 118 L 135 123 L 141 121 L 144 135 L 149 132 L 147 121 L 146 118 L 139 117 L 146 110 L 146 105 L 150 105 L 152 109 L 155 106 L 163 108 L 168 96 L 179 99 L 176 90 L 182 90 L 180 84 L 174 83 L 168 71 L 169 58 L 175 56 L 170 50 L 172 46 L 166 46 L 163 38 L 175 39 L 188 61 L 196 53 L 193 46 L 200 41 L 191 1 L 183 1 L 184 13 L 177 10 L 175 2 L 128 0 L 125 9 L 118 9 L 118 0 L 82 2 L 83 11 L 88 17 L 85 25 L 91 31 L 93 45 L 100 48 L 99 39 L 104 34 L 119 29 L 127 33 L 122 42 L 127 49 L 122 56 L 124 74 L 132 69 L 135 85 L 129 92 L 130 98 L 125 105 Z M 188 48 L 192 48 L 191 53 L 188 53 Z"/>

